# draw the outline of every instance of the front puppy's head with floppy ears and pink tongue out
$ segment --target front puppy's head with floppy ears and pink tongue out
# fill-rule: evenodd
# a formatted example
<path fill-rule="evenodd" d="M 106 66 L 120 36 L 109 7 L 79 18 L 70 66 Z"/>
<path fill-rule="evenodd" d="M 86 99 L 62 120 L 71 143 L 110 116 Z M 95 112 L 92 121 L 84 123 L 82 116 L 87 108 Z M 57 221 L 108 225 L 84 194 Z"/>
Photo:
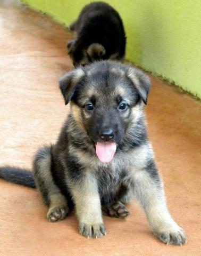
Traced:
<path fill-rule="evenodd" d="M 99 160 L 110 162 L 147 102 L 149 79 L 137 68 L 100 61 L 66 74 L 60 89 Z"/>

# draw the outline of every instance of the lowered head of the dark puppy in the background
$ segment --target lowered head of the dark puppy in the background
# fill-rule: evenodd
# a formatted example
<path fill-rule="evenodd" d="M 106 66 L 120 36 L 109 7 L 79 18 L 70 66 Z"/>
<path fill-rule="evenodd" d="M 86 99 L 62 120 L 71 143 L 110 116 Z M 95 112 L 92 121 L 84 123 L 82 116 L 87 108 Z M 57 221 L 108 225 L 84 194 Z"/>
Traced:
<path fill-rule="evenodd" d="M 105 59 L 105 48 L 99 43 L 92 43 L 88 47 L 84 47 L 76 39 L 72 39 L 66 47 L 74 66 L 86 66 L 91 62 Z"/>

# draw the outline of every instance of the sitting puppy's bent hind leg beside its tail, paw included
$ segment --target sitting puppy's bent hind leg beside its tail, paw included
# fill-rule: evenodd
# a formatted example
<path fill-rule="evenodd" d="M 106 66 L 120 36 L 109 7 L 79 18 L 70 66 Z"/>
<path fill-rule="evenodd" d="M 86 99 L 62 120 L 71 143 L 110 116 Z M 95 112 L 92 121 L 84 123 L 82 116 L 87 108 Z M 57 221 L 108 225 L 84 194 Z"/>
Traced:
<path fill-rule="evenodd" d="M 69 209 L 66 197 L 54 182 L 51 167 L 51 147 L 39 149 L 34 159 L 35 183 L 43 198 L 43 203 L 49 207 L 47 219 L 54 222 L 64 219 Z"/>

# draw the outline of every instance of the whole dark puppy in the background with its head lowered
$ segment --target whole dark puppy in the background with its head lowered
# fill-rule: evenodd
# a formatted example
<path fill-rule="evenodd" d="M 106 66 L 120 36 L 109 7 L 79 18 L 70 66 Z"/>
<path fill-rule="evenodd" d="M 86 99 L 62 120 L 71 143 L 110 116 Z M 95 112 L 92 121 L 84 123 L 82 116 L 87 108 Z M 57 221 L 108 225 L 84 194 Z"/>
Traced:
<path fill-rule="evenodd" d="M 70 25 L 74 39 L 67 43 L 74 66 L 85 66 L 96 60 L 123 60 L 125 33 L 118 12 L 103 2 L 86 5 Z"/>

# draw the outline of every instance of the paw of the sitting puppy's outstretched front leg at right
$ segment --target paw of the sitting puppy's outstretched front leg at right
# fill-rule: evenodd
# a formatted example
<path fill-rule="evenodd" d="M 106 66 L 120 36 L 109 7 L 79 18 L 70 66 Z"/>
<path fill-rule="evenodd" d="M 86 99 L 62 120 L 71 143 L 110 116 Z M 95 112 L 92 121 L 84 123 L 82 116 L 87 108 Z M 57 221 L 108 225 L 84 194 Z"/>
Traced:
<path fill-rule="evenodd" d="M 154 235 L 165 244 L 181 245 L 187 241 L 185 231 L 179 226 L 155 231 Z"/>

